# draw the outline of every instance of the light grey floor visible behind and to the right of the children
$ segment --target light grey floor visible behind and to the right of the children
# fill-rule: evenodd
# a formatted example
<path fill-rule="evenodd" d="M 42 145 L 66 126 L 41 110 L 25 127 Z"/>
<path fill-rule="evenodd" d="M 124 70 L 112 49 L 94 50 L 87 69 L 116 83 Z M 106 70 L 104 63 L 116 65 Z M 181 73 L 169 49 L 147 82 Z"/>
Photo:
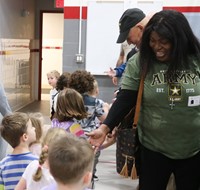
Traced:
<path fill-rule="evenodd" d="M 35 101 L 20 109 L 21 112 L 41 112 L 45 118 L 45 126 L 50 125 L 49 101 Z M 95 190 L 136 190 L 138 180 L 121 177 L 116 172 L 115 144 L 102 150 L 97 173 L 99 180 L 95 182 Z"/>

